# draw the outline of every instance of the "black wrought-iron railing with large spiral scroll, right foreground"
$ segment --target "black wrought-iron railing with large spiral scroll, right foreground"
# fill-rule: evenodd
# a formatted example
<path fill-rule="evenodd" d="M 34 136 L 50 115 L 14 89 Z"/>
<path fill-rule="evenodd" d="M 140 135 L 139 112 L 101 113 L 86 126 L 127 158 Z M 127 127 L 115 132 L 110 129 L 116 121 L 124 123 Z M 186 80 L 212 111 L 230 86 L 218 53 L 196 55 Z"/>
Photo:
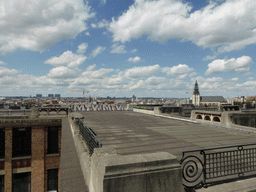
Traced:
<path fill-rule="evenodd" d="M 256 175 L 256 143 L 184 151 L 180 160 L 186 188 Z"/>

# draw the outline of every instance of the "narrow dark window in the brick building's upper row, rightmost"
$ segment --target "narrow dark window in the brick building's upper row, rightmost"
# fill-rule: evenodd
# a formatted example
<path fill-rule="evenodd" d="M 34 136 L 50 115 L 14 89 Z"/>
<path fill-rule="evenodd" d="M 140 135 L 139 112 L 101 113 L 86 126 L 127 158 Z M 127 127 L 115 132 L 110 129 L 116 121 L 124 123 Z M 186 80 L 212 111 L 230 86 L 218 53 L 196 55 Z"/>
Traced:
<path fill-rule="evenodd" d="M 58 127 L 48 127 L 48 154 L 59 153 Z"/>

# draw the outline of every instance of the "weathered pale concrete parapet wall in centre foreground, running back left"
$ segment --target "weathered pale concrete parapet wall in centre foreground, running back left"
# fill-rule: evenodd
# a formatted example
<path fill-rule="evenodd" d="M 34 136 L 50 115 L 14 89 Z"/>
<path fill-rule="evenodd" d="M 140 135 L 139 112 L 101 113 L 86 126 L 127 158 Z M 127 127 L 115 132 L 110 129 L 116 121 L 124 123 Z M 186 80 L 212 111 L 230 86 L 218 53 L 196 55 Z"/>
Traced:
<path fill-rule="evenodd" d="M 182 192 L 182 170 L 176 156 L 167 152 L 118 155 L 111 147 L 96 148 L 92 157 L 70 119 L 77 155 L 90 192 Z"/>

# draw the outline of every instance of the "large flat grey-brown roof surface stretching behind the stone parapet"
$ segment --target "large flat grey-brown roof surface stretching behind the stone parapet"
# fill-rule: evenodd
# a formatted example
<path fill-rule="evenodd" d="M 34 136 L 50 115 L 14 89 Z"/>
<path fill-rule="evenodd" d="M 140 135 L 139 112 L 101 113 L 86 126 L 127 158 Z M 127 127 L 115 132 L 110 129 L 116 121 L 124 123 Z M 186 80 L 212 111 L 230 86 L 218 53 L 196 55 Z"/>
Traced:
<path fill-rule="evenodd" d="M 256 134 L 157 117 L 133 111 L 80 112 L 103 146 L 120 155 L 182 151 L 254 143 Z"/>

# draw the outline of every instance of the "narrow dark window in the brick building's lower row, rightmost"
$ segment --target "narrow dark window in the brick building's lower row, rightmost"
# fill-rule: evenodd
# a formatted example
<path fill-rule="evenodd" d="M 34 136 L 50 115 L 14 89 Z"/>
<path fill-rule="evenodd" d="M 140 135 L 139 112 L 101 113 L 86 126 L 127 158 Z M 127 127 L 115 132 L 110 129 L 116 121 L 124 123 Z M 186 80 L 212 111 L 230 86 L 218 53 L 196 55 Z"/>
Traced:
<path fill-rule="evenodd" d="M 58 169 L 47 170 L 47 191 L 58 191 Z"/>

